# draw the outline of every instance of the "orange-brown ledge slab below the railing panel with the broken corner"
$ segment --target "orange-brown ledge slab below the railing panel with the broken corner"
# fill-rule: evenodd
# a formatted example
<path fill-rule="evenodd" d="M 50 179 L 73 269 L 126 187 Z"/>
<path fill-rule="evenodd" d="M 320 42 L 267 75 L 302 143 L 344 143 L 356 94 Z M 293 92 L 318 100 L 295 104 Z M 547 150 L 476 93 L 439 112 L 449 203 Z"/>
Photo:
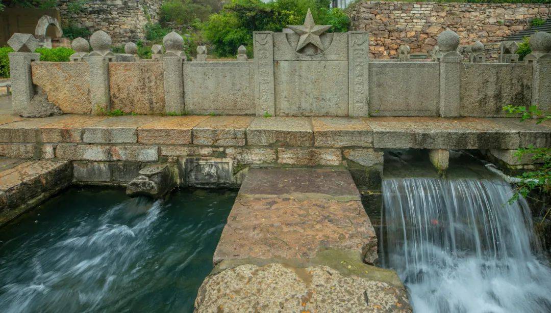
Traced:
<path fill-rule="evenodd" d="M 82 142 L 84 128 L 101 122 L 105 116 L 67 115 L 66 118 L 39 127 L 43 142 Z"/>

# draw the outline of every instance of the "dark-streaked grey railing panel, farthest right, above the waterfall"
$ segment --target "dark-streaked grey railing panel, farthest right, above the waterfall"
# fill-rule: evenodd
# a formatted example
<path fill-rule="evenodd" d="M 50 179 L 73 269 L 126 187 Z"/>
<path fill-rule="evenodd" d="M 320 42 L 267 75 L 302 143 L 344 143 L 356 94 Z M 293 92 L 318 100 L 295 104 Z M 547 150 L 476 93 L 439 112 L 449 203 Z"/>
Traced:
<path fill-rule="evenodd" d="M 461 116 L 505 117 L 506 105 L 530 106 L 532 65 L 464 63 Z"/>

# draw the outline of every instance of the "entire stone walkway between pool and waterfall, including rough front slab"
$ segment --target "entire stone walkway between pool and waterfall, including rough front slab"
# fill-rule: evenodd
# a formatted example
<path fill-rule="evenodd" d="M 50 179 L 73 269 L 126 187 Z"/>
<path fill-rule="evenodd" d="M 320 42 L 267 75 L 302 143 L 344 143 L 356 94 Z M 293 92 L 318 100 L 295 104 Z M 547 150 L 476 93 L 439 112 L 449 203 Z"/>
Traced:
<path fill-rule="evenodd" d="M 251 169 L 199 288 L 197 312 L 408 312 L 350 173 Z"/>

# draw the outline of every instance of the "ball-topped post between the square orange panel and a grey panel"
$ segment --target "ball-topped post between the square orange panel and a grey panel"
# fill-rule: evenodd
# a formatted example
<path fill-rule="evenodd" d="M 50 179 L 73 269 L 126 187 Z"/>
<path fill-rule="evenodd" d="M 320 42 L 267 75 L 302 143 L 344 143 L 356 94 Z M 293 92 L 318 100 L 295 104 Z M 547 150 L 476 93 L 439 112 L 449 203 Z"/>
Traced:
<path fill-rule="evenodd" d="M 165 86 L 165 113 L 185 112 L 183 99 L 183 64 L 186 54 L 182 52 L 183 38 L 175 31 L 163 38 L 163 80 Z"/>

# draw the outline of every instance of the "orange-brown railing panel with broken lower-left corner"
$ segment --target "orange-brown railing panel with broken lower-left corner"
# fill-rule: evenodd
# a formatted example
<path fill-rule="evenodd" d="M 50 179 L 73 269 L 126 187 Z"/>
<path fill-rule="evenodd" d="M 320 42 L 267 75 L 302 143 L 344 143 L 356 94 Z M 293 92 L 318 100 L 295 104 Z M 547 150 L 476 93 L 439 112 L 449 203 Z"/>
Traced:
<path fill-rule="evenodd" d="M 48 101 L 63 113 L 90 114 L 90 83 L 88 63 L 33 62 L 33 84 L 47 95 Z"/>

